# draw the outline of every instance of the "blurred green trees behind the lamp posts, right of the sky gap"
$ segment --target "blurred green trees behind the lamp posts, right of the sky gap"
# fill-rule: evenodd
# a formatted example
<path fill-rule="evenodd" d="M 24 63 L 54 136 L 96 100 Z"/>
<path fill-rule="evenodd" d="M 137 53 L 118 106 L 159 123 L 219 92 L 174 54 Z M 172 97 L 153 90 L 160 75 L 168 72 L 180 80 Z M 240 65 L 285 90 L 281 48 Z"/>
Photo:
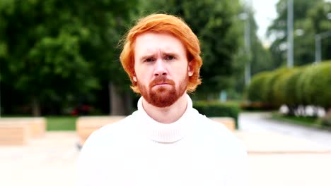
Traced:
<path fill-rule="evenodd" d="M 331 3 L 323 0 L 294 1 L 294 61 L 301 66 L 315 60 L 315 35 L 331 29 L 327 13 L 331 11 Z M 276 37 L 270 51 L 274 63 L 281 66 L 286 61 L 287 40 L 287 1 L 277 3 L 278 16 L 268 28 L 268 35 Z M 330 37 L 322 41 L 323 59 L 330 59 Z"/>

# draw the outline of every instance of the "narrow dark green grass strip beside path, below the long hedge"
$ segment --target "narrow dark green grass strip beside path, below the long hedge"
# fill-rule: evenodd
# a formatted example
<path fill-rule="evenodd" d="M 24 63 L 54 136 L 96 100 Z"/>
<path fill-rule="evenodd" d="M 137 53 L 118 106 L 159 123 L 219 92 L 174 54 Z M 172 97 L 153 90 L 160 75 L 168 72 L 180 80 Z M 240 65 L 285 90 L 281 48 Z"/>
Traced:
<path fill-rule="evenodd" d="M 315 117 L 296 117 L 296 116 L 283 116 L 279 113 L 272 113 L 272 119 L 275 120 L 282 120 L 289 123 L 294 123 L 298 125 L 305 125 L 308 127 L 314 127 L 314 128 L 323 128 L 323 126 L 320 124 L 320 121 L 318 118 Z"/>

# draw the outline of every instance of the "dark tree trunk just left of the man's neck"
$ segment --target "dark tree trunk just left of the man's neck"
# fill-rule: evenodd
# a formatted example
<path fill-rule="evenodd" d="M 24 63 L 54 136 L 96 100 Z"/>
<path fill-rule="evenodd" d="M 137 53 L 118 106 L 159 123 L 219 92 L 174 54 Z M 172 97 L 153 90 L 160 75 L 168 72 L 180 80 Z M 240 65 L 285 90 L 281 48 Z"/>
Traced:
<path fill-rule="evenodd" d="M 114 116 L 124 116 L 125 112 L 125 101 L 124 95 L 120 94 L 116 85 L 112 82 L 108 84 L 109 97 L 110 97 L 110 115 Z"/>

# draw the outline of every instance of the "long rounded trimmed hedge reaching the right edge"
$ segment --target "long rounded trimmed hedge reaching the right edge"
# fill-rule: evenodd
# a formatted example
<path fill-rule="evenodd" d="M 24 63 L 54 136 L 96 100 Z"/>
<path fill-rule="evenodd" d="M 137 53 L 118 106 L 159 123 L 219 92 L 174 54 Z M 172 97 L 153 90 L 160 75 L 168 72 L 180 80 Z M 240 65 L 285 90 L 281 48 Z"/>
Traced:
<path fill-rule="evenodd" d="M 331 108 L 331 61 L 300 68 L 279 68 L 252 77 L 248 100 L 274 107 L 314 105 Z"/>

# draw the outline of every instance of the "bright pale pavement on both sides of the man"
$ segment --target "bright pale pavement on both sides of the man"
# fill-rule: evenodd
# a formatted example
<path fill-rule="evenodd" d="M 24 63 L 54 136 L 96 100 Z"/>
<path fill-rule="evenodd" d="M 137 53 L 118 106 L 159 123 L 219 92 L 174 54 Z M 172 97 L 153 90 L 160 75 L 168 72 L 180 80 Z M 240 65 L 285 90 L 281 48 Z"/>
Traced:
<path fill-rule="evenodd" d="M 330 133 L 265 117 L 240 115 L 236 132 L 248 149 L 250 185 L 330 186 Z M 0 185 L 74 185 L 77 141 L 76 132 L 47 132 L 25 146 L 0 146 Z"/>

